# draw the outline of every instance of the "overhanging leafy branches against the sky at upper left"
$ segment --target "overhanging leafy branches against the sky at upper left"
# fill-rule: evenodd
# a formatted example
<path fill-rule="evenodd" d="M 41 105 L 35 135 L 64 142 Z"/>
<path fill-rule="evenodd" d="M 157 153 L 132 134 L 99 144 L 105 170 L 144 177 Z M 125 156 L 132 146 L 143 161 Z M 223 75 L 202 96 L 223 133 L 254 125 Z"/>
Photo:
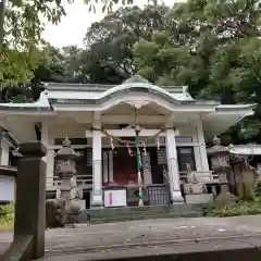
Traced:
<path fill-rule="evenodd" d="M 73 1 L 67 0 L 70 3 Z M 77 0 L 78 1 L 78 0 Z M 83 0 L 82 0 L 83 1 Z M 132 0 L 84 0 L 89 10 L 103 4 L 110 11 L 113 4 L 128 4 Z M 38 48 L 44 44 L 42 17 L 58 24 L 65 15 L 61 0 L 0 0 L 0 87 L 26 82 L 41 60 Z"/>

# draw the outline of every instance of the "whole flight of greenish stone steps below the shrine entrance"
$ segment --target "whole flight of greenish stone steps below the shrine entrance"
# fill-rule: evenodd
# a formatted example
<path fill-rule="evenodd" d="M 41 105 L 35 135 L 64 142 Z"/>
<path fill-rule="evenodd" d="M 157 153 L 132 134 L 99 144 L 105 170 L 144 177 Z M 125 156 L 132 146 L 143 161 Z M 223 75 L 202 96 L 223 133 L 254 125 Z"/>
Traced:
<path fill-rule="evenodd" d="M 203 204 L 166 204 L 126 208 L 90 209 L 82 212 L 79 223 L 87 223 L 87 213 L 91 224 L 151 220 L 198 217 L 203 215 Z"/>

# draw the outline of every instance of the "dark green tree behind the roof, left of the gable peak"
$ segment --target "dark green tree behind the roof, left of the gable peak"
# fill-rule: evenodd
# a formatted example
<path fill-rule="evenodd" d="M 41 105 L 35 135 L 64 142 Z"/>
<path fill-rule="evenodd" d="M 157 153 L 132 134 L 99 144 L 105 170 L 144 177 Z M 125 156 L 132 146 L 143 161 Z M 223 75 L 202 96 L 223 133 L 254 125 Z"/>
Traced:
<path fill-rule="evenodd" d="M 144 37 L 151 39 L 154 29 L 163 28 L 165 5 L 120 8 L 86 33 L 82 72 L 91 83 L 120 84 L 135 72 L 132 48 Z"/>

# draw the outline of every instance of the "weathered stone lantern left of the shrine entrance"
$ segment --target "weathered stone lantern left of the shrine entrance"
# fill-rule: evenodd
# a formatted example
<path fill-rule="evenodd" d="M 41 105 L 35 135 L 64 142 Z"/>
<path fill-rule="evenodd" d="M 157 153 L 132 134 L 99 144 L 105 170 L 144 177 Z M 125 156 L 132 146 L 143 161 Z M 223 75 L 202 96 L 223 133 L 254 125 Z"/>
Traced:
<path fill-rule="evenodd" d="M 83 189 L 77 187 L 75 162 L 78 153 L 72 148 L 72 142 L 65 138 L 62 148 L 55 153 L 58 160 L 55 175 L 61 178 L 61 186 L 58 189 L 57 198 L 65 200 L 65 215 L 77 216 L 80 209 L 85 208 L 83 198 Z M 71 222 L 67 222 L 71 223 Z M 74 222 L 73 222 L 74 223 Z"/>

